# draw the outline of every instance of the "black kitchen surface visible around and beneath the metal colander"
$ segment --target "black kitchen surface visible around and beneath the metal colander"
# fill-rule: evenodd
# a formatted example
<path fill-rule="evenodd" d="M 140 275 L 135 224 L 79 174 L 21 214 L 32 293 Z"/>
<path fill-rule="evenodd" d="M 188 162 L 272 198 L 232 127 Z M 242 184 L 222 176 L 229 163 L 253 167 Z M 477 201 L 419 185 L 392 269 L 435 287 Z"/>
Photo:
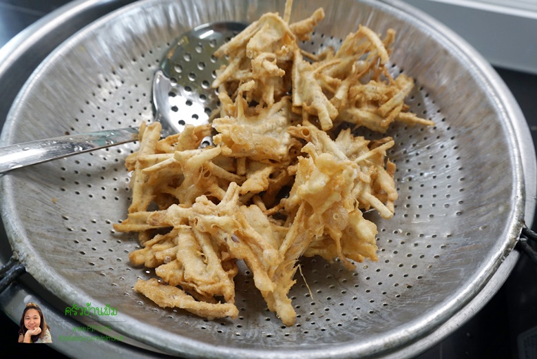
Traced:
<path fill-rule="evenodd" d="M 69 1 L 0 0 L 0 47 L 28 25 L 67 2 Z M 537 75 L 501 68 L 496 70 L 522 108 L 534 142 L 537 142 Z M 0 125 L 3 125 L 3 121 L 0 119 Z M 0 236 L 6 236 L 1 225 Z M 415 359 L 537 358 L 523 355 L 517 344 L 520 334 L 534 328 L 537 328 L 537 266 L 523 255 L 503 287 L 478 314 Z M 22 349 L 16 344 L 18 323 L 14 323 L 3 312 L 0 312 L 0 330 L 4 344 L 8 345 L 8 349 L 13 345 L 19 355 L 36 353 L 45 356 L 50 354 L 52 358 L 66 358 L 49 345 L 41 345 L 39 348 L 25 346 Z M 535 347 L 533 350 L 536 350 Z"/>

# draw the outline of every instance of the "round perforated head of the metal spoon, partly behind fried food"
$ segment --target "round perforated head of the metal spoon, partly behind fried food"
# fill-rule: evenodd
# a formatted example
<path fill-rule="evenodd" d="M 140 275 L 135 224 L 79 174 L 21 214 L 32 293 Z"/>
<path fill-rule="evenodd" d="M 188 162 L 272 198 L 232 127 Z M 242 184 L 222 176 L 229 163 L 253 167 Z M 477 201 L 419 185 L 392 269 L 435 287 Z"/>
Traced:
<path fill-rule="evenodd" d="M 213 54 L 244 28 L 244 23 L 208 23 L 182 34 L 171 45 L 153 81 L 156 119 L 162 123 L 163 134 L 209 122 L 218 106 L 218 94 L 211 83 L 215 71 L 227 61 Z M 202 146 L 210 144 L 210 137 L 202 141 Z"/>

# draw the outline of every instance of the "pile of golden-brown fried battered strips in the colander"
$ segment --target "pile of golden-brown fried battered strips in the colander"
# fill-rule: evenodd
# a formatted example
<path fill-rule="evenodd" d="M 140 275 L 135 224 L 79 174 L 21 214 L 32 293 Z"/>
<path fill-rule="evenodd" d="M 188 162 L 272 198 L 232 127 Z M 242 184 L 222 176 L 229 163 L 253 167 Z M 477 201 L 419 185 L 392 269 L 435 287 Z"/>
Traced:
<path fill-rule="evenodd" d="M 404 103 L 414 81 L 388 72 L 394 31 L 381 39 L 359 26 L 338 50 L 310 54 L 319 8 L 289 23 L 266 13 L 215 52 L 228 57 L 213 82 L 220 107 L 211 125 L 160 139 L 140 128 L 126 160 L 132 203 L 119 232 L 138 232 L 129 258 L 160 279 L 134 289 L 160 307 L 205 318 L 238 316 L 238 261 L 284 325 L 296 313 L 288 292 L 301 256 L 339 258 L 349 269 L 377 260 L 377 226 L 363 212 L 394 214 L 390 137 L 370 141 L 342 123 L 384 133 L 394 121 L 434 125 Z M 347 126 L 348 127 L 348 126 Z M 215 145 L 199 148 L 211 135 Z"/>

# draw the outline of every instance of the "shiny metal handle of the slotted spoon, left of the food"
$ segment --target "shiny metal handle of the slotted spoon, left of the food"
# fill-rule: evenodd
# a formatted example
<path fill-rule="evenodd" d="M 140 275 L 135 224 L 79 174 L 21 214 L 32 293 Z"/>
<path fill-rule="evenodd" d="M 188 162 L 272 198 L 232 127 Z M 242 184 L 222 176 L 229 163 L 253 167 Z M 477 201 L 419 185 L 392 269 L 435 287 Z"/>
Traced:
<path fill-rule="evenodd" d="M 89 132 L 0 147 L 0 174 L 16 168 L 52 161 L 136 141 L 138 128 Z"/>

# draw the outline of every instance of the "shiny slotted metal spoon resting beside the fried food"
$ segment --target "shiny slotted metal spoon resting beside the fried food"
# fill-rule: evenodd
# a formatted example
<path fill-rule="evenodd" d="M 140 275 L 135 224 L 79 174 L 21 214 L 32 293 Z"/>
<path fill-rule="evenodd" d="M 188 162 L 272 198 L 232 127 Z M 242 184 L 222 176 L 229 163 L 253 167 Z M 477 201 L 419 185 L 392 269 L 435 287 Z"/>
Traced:
<path fill-rule="evenodd" d="M 244 28 L 244 23 L 207 23 L 185 32 L 171 45 L 153 80 L 156 120 L 162 123 L 164 136 L 182 132 L 187 124 L 202 125 L 209 121 L 209 114 L 218 102 L 218 96 L 211 88 L 210 76 L 223 62 L 222 59 L 213 57 L 212 53 Z M 195 68 L 197 71 L 194 71 Z M 198 72 L 206 74 L 207 79 L 197 79 Z M 138 127 L 127 127 L 85 134 L 65 134 L 52 139 L 0 147 L 0 174 L 28 165 L 133 142 L 137 138 Z M 209 137 L 203 139 L 202 146 L 211 143 Z"/>

